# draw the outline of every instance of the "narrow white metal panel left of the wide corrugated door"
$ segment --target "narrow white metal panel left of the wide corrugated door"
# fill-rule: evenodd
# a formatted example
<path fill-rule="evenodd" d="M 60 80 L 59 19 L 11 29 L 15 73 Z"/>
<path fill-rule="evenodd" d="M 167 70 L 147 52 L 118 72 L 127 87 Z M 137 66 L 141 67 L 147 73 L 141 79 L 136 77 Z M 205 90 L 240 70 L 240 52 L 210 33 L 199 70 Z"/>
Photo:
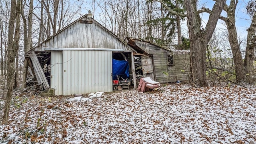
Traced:
<path fill-rule="evenodd" d="M 51 88 L 55 95 L 62 95 L 62 51 L 51 52 Z"/>

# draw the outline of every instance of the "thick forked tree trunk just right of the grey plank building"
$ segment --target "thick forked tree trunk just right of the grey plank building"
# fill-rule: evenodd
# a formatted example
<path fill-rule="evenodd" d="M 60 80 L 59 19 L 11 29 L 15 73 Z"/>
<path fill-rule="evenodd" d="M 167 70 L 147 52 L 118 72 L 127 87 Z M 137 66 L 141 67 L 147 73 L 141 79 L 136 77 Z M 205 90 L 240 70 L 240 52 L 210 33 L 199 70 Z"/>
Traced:
<path fill-rule="evenodd" d="M 198 80 L 199 86 L 208 86 L 206 81 L 206 48 L 225 3 L 226 0 L 215 2 L 206 28 L 201 30 L 201 18 L 196 9 L 197 0 L 184 1 L 187 10 L 187 25 L 190 37 L 192 82 L 196 83 Z"/>

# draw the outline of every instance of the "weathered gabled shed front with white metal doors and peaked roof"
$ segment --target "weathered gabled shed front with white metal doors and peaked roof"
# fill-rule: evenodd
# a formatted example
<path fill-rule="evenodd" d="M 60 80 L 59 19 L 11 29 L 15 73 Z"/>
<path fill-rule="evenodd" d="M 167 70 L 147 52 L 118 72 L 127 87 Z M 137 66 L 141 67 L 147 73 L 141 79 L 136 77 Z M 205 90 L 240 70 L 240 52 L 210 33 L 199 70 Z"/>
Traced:
<path fill-rule="evenodd" d="M 135 50 L 93 18 L 88 18 L 87 14 L 32 51 L 48 52 L 48 64 L 51 67 L 48 77 L 50 88 L 55 89 L 55 95 L 112 92 L 113 52 L 122 52 L 122 55 L 129 56 L 131 79 L 134 80 L 136 88 L 132 55 Z"/>

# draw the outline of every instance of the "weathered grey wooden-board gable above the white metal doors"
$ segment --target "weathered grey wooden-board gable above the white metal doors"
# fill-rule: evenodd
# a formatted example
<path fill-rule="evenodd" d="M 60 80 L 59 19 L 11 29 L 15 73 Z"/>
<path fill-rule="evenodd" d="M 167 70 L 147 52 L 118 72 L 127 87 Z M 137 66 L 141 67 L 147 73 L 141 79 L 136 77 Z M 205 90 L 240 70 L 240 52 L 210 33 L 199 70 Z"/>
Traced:
<path fill-rule="evenodd" d="M 86 20 L 82 18 L 81 20 Z M 94 21 L 92 24 L 75 22 L 35 48 L 111 48 L 130 52 L 131 50 L 114 34 Z"/>

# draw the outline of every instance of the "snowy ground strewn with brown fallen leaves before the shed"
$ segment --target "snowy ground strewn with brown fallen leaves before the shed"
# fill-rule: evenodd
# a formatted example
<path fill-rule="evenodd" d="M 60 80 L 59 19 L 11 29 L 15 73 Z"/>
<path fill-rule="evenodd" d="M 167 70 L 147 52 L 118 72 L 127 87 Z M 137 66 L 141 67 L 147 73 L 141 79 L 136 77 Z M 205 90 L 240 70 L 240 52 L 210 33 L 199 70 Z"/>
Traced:
<path fill-rule="evenodd" d="M 256 143 L 255 88 L 169 85 L 88 97 L 14 98 L 0 143 Z"/>

